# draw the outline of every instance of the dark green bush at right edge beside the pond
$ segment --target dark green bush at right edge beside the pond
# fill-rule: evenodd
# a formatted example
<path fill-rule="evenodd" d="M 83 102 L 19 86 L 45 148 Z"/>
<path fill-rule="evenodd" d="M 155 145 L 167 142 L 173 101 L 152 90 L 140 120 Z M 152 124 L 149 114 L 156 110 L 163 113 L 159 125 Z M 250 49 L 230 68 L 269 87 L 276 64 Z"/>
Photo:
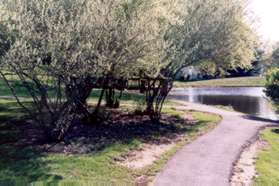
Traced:
<path fill-rule="evenodd" d="M 266 95 L 279 101 L 279 68 L 274 68 L 266 74 Z"/>

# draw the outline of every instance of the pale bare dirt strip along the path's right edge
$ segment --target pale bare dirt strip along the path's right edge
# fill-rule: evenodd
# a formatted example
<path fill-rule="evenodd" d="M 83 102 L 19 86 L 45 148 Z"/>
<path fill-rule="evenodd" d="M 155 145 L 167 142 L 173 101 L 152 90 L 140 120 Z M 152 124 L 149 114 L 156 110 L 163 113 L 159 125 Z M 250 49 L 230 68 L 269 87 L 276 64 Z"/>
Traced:
<path fill-rule="evenodd" d="M 253 184 L 253 180 L 257 177 L 255 167 L 257 152 L 267 147 L 268 144 L 259 139 L 244 149 L 233 169 L 232 186 L 249 186 Z"/>

